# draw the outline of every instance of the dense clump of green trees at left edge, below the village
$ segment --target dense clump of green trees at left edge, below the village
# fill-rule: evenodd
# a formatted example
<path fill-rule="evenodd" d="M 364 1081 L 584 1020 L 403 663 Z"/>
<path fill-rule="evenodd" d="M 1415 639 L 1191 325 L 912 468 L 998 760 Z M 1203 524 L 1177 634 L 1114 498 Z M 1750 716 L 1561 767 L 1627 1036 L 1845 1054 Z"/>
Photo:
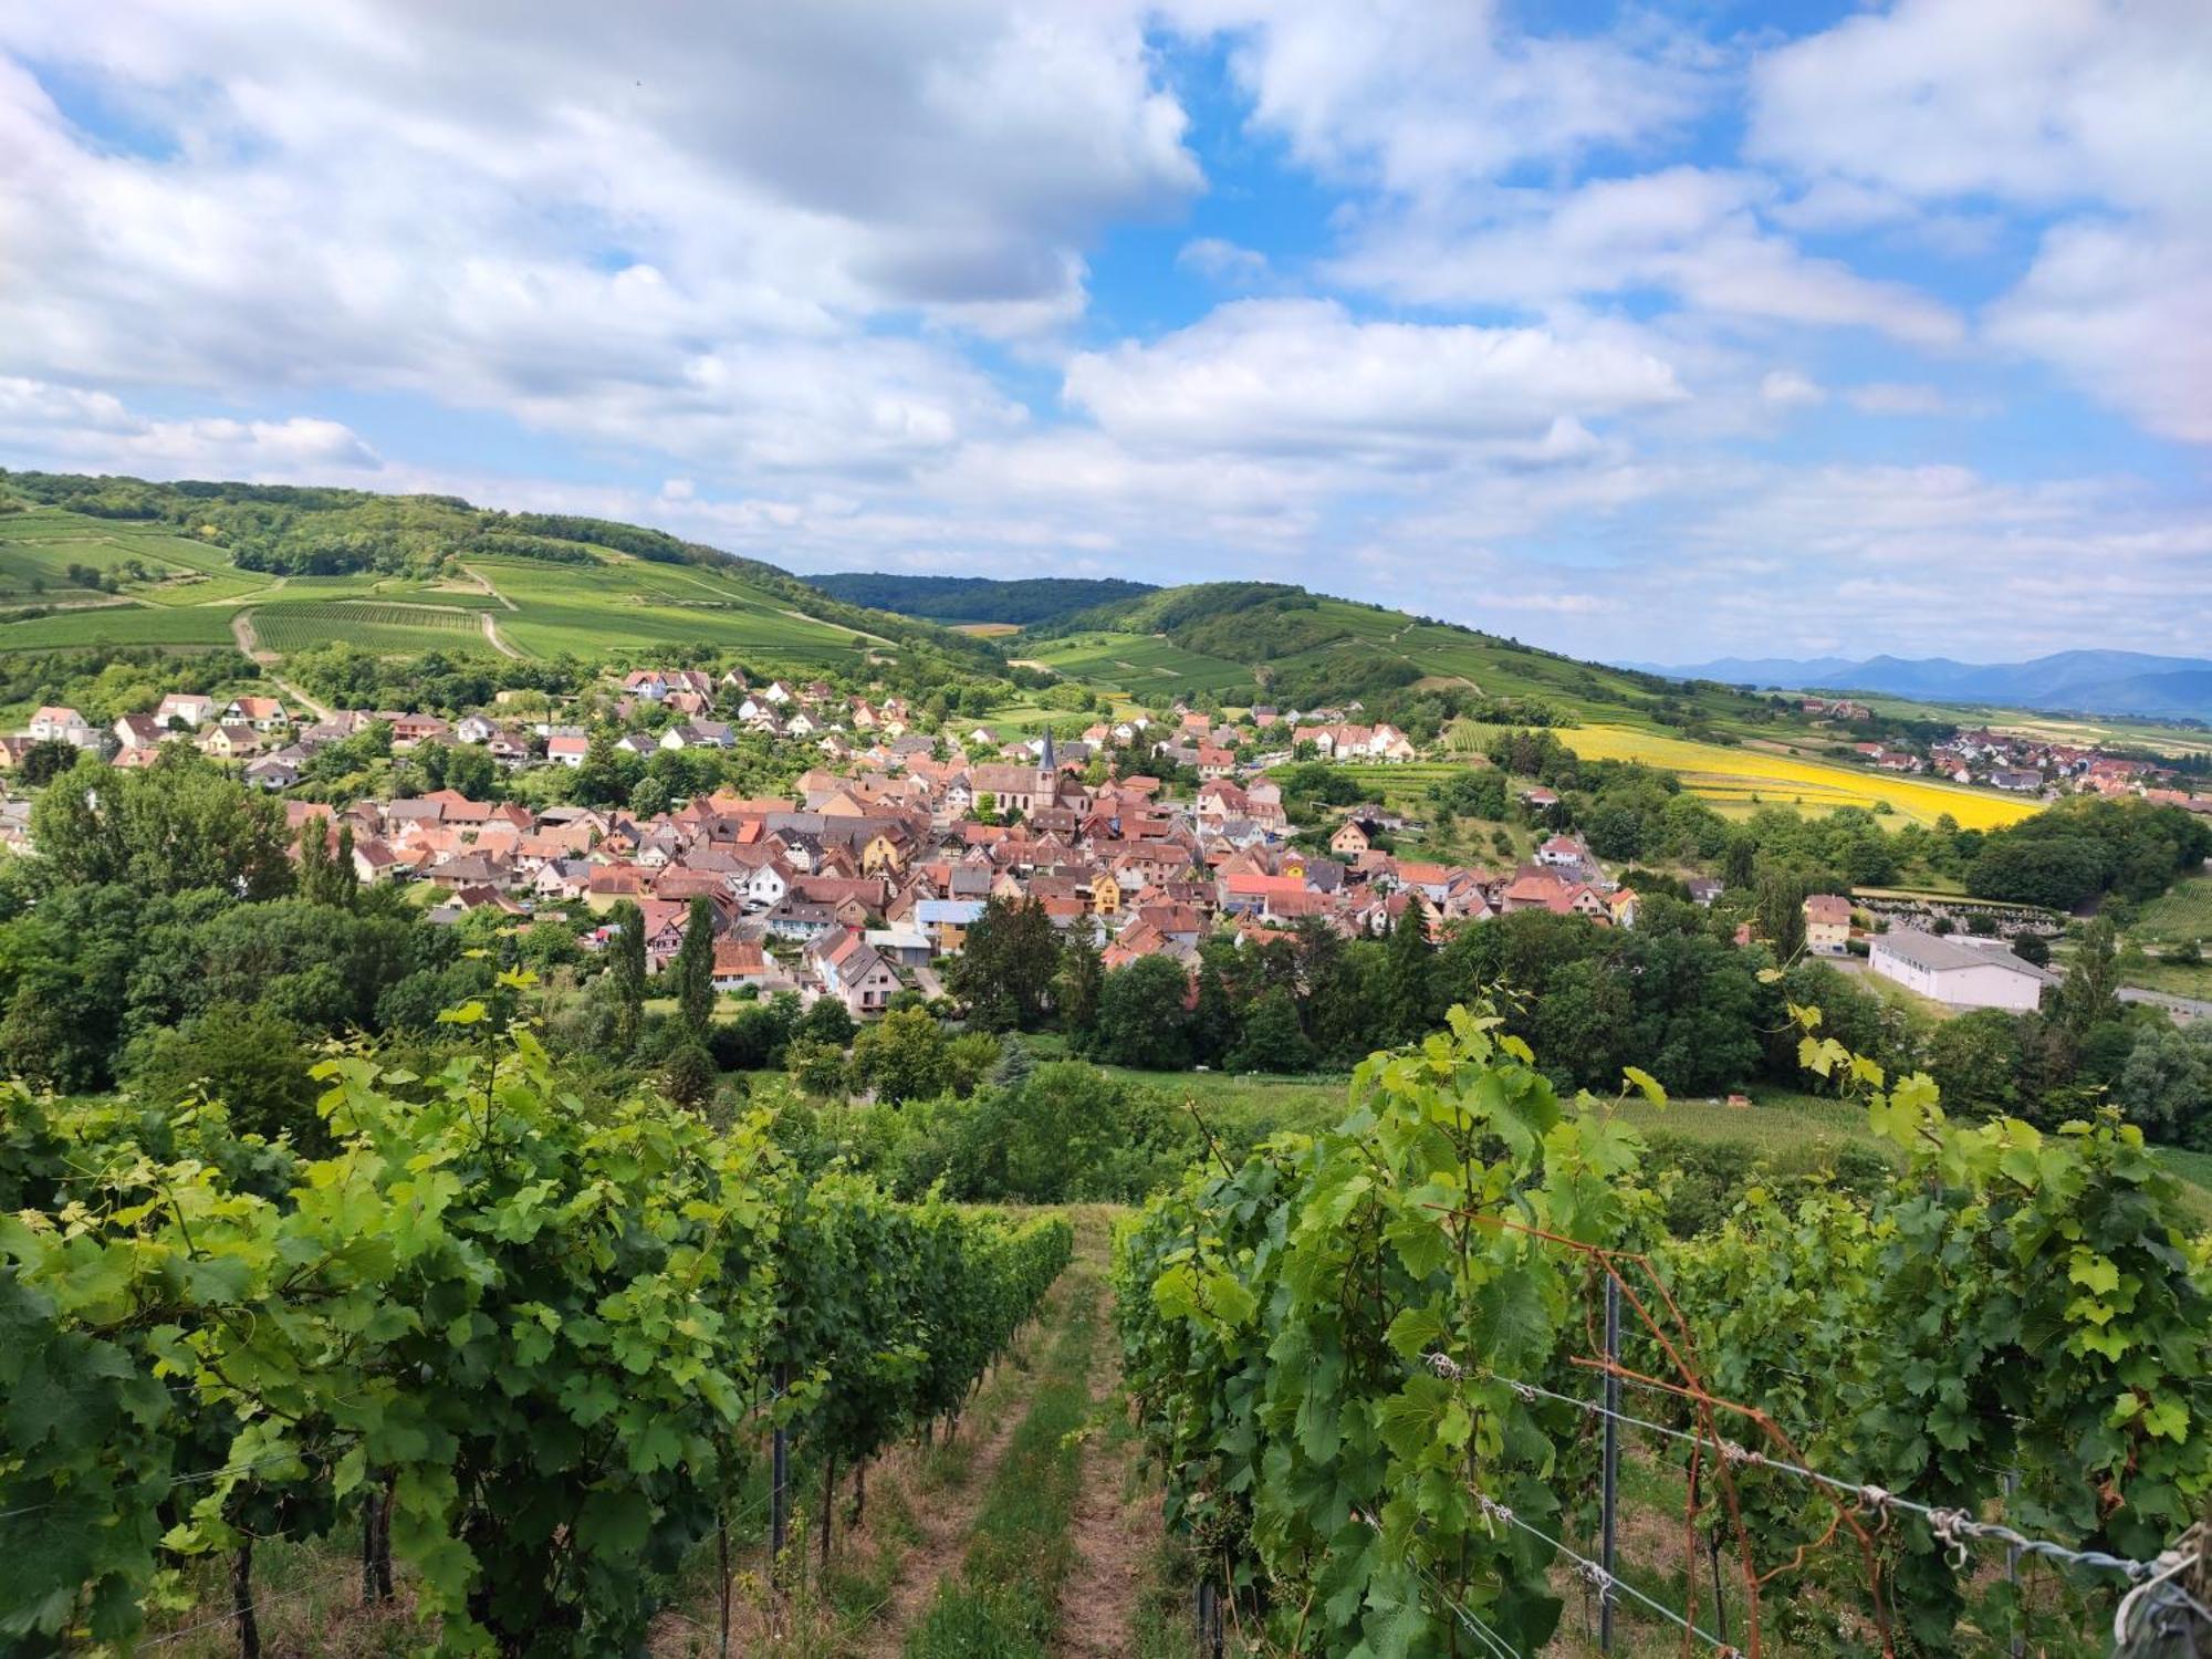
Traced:
<path fill-rule="evenodd" d="M 181 745 L 144 772 L 80 759 L 31 834 L 40 856 L 0 865 L 0 1066 L 44 1088 L 212 1079 L 243 1124 L 312 1139 L 312 1044 L 429 1035 L 495 975 L 467 929 L 361 889 L 349 841 L 294 845 L 283 803 Z M 546 927 L 531 949 L 575 951 Z"/>

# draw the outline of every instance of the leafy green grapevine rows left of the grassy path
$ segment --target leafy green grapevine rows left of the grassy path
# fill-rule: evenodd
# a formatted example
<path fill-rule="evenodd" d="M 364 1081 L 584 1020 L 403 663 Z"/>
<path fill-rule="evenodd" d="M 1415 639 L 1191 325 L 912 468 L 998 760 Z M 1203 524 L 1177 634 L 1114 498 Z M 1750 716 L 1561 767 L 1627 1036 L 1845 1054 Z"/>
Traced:
<path fill-rule="evenodd" d="M 11 1652 L 257 1652 L 254 1551 L 301 1540 L 398 1568 L 445 1652 L 635 1650 L 774 1444 L 830 1491 L 956 1420 L 1071 1254 L 759 1117 L 586 1113 L 522 1031 L 316 1075 L 312 1157 L 208 1102 L 0 1102 Z"/>

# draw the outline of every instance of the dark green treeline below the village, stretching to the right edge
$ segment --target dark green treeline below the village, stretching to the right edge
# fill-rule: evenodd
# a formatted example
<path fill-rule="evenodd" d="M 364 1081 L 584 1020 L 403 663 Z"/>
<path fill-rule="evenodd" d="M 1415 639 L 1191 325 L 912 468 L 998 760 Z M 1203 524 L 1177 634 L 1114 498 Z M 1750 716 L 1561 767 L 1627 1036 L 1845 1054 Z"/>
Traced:
<path fill-rule="evenodd" d="M 1312 920 L 1263 942 L 1210 933 L 1194 973 L 1170 956 L 1106 971 L 1042 907 L 991 900 L 947 982 L 984 1029 L 1057 1026 L 1075 1053 L 1164 1073 L 1347 1068 L 1416 1042 L 1458 1002 L 1495 998 L 1559 1088 L 1601 1088 L 1637 1064 L 1677 1095 L 1803 1086 L 1790 1009 L 1816 1006 L 1856 1053 L 1929 1068 L 1960 1110 L 2055 1128 L 2110 1097 L 2154 1139 L 2212 1148 L 2212 1046 L 2174 1033 L 2161 1009 L 2119 1002 L 2108 922 L 2088 929 L 2051 1006 L 1927 1020 L 1798 958 L 1814 889 L 1803 878 L 1761 878 L 1745 914 L 1767 942 L 1752 947 L 1734 942 L 1732 911 L 1646 880 L 1632 929 L 1531 909 L 1431 938 L 1409 907 L 1383 938 Z"/>

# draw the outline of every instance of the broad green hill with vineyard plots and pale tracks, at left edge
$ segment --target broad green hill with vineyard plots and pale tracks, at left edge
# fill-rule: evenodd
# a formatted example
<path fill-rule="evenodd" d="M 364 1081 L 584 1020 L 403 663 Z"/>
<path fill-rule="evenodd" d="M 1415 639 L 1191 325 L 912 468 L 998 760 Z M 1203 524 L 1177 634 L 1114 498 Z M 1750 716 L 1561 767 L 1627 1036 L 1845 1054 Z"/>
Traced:
<path fill-rule="evenodd" d="M 0 473 L 0 653 L 354 644 L 555 659 L 706 646 L 779 672 L 1002 655 L 664 531 L 453 495 Z"/>

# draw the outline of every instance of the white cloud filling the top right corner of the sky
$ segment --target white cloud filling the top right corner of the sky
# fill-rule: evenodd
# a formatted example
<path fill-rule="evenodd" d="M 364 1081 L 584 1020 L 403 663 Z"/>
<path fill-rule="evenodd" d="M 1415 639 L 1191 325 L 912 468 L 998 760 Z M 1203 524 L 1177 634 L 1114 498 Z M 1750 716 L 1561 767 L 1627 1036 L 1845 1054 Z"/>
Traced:
<path fill-rule="evenodd" d="M 2062 212 L 1989 336 L 2212 442 L 2212 7 L 1902 0 L 1765 55 L 1747 148 L 1858 204 Z M 1898 206 L 1905 204 L 1905 206 Z"/>

